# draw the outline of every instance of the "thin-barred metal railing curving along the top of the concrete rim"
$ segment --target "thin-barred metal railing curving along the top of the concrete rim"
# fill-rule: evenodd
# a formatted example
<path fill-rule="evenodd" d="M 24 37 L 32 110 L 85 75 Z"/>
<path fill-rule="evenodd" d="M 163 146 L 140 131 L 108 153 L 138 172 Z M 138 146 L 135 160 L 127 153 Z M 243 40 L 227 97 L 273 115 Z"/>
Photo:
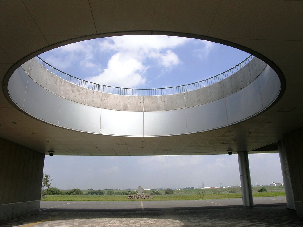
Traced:
<path fill-rule="evenodd" d="M 156 95 L 168 95 L 168 94 L 178 94 L 183 93 L 186 91 L 196 90 L 202 87 L 209 86 L 211 84 L 215 84 L 219 81 L 224 80 L 225 78 L 231 76 L 232 74 L 239 71 L 242 67 L 244 67 L 248 62 L 251 61 L 251 59 L 254 58 L 253 55 L 250 55 L 248 58 L 246 58 L 244 61 L 236 65 L 235 67 L 232 67 L 231 69 L 218 74 L 214 77 L 210 77 L 203 81 L 198 81 L 191 84 L 181 85 L 177 87 L 165 87 L 165 88 L 152 88 L 152 89 L 136 89 L 136 88 L 123 88 L 123 87 L 112 87 L 112 86 L 106 86 L 102 84 L 96 84 L 89 81 L 85 81 L 82 79 L 79 79 L 77 77 L 73 77 L 69 74 L 66 74 L 65 72 L 62 72 L 55 67 L 51 66 L 38 56 L 35 57 L 35 59 L 42 64 L 48 71 L 52 72 L 53 74 L 57 75 L 58 77 L 69 81 L 73 84 L 76 84 L 81 87 L 85 87 L 91 90 L 101 91 L 105 93 L 110 94 L 119 94 L 119 95 L 132 95 L 132 96 L 156 96 Z"/>

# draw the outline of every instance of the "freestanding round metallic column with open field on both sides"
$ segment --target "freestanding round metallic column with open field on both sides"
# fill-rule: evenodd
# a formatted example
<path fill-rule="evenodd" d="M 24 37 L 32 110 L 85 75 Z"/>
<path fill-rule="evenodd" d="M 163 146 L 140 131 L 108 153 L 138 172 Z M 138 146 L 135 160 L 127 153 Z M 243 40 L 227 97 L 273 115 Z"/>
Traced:
<path fill-rule="evenodd" d="M 251 179 L 247 151 L 238 152 L 238 162 L 240 170 L 243 207 L 253 207 L 254 201 L 252 199 Z"/>

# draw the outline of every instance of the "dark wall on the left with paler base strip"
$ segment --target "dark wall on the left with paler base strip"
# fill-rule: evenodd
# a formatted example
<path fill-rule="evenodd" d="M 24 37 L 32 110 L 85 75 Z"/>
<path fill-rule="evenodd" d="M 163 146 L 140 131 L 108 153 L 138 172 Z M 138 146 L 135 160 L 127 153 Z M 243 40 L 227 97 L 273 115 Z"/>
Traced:
<path fill-rule="evenodd" d="M 0 138 L 0 219 L 39 210 L 44 157 Z"/>

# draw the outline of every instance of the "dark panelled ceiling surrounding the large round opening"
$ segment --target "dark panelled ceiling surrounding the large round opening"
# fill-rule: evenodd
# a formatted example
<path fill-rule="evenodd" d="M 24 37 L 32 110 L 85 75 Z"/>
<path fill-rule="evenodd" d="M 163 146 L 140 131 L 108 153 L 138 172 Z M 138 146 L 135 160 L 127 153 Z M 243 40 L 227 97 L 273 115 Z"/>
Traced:
<path fill-rule="evenodd" d="M 0 11 L 0 137 L 33 150 L 55 155 L 264 153 L 275 149 L 258 148 L 303 126 L 302 1 L 23 0 L 1 1 Z M 6 99 L 5 75 L 30 58 L 68 43 L 124 34 L 197 35 L 240 48 L 280 71 L 285 92 L 267 111 L 230 127 L 144 138 L 62 129 L 27 116 Z"/>

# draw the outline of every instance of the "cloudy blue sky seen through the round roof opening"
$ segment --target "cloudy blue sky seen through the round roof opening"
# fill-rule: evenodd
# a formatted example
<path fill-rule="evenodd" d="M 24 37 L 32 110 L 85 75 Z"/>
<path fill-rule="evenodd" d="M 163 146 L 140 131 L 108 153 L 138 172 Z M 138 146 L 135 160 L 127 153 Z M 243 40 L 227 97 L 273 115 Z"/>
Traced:
<path fill-rule="evenodd" d="M 68 44 L 39 57 L 85 81 L 150 89 L 205 80 L 234 67 L 249 55 L 194 38 L 127 35 Z"/>

